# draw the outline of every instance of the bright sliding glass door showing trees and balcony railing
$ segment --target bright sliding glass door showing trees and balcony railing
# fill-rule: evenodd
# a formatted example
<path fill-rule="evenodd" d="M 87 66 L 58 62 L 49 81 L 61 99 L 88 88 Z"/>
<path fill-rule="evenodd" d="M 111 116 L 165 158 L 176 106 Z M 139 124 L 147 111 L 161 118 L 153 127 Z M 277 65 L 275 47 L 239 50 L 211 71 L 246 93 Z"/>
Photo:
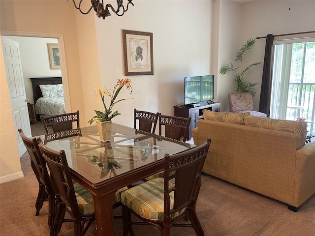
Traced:
<path fill-rule="evenodd" d="M 304 41 L 303 41 L 304 40 Z M 314 127 L 315 39 L 274 42 L 270 117 L 305 118 Z"/>

